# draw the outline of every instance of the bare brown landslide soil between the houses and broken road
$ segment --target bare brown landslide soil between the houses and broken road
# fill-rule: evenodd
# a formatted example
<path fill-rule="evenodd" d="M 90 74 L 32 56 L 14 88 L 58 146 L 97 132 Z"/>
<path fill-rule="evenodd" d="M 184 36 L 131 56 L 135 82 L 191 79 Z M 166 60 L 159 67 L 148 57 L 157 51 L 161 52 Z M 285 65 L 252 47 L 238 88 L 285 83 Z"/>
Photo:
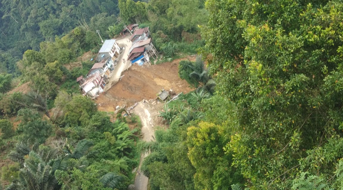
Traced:
<path fill-rule="evenodd" d="M 196 56 L 188 56 L 159 65 L 133 65 L 122 72 L 125 75 L 108 91 L 95 99 L 99 111 L 115 111 L 116 106 L 132 106 L 143 99 L 155 99 L 159 91 L 173 89 L 175 93 L 188 93 L 193 89 L 178 76 L 180 60 L 194 61 Z"/>

